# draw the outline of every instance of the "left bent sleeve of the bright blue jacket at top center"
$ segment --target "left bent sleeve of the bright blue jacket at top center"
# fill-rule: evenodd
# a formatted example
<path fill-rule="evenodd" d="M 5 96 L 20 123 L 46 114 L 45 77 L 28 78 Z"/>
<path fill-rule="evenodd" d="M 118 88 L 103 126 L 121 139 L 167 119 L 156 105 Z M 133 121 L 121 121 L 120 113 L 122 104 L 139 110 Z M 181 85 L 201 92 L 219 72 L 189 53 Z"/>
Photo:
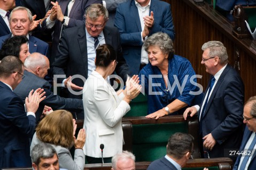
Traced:
<path fill-rule="evenodd" d="M 123 8 L 124 5 L 118 5 L 117 12 L 115 13 L 115 23 L 114 26 L 118 28 L 120 33 L 120 40 L 122 45 L 133 45 L 141 46 L 143 44 L 141 38 L 141 31 L 137 33 L 127 33 L 126 23 L 125 23 L 125 13 L 127 9 Z M 130 11 L 127 11 L 130 12 Z"/>

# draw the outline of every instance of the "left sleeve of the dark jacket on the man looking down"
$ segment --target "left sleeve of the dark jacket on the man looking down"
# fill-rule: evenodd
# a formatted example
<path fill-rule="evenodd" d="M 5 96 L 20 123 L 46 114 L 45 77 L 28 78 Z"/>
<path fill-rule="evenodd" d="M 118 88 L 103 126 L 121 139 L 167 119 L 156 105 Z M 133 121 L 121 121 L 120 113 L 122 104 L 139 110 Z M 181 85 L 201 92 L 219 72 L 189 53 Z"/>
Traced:
<path fill-rule="evenodd" d="M 68 38 L 66 31 L 62 31 L 61 38 L 59 40 L 58 51 L 55 56 L 55 60 L 52 63 L 52 73 L 53 75 L 66 75 L 64 69 L 68 64 Z M 58 78 L 57 82 L 62 83 L 65 78 Z"/>

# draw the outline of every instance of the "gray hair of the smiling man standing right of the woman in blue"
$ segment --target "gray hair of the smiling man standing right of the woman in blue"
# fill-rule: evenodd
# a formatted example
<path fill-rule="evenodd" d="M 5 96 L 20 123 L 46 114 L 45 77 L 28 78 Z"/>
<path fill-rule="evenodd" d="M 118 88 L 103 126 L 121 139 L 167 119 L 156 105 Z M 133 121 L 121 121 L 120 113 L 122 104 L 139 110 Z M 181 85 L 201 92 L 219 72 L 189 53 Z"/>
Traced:
<path fill-rule="evenodd" d="M 202 46 L 202 50 L 205 51 L 207 48 L 210 49 L 209 57 L 218 56 L 220 59 L 221 64 L 228 63 L 228 54 L 227 49 L 224 47 L 223 43 L 219 41 L 210 41 L 207 43 L 204 43 Z"/>

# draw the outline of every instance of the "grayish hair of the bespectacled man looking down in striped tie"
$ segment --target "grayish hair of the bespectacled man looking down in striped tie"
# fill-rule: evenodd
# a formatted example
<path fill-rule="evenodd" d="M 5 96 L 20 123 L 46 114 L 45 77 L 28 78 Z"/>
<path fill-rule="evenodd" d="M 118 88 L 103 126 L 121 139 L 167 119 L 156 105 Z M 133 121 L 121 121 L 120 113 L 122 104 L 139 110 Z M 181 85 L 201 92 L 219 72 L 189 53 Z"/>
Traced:
<path fill-rule="evenodd" d="M 108 11 L 102 4 L 91 4 L 87 10 L 85 16 L 95 21 L 98 17 L 103 16 L 105 22 L 108 20 Z"/>

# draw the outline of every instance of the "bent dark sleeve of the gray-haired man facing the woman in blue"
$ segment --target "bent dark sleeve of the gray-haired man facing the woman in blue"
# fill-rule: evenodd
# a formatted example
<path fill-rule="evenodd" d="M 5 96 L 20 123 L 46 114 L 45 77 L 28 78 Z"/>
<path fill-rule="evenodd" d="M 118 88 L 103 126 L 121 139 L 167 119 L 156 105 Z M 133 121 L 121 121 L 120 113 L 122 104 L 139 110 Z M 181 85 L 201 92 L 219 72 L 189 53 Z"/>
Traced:
<path fill-rule="evenodd" d="M 219 98 L 220 99 L 220 98 Z M 218 98 L 214 100 L 219 100 Z M 223 143 L 227 136 L 237 131 L 237 128 L 243 124 L 243 104 L 244 104 L 244 88 L 242 80 L 233 78 L 229 81 L 223 94 L 224 107 L 227 114 L 224 121 L 218 125 L 211 133 L 214 139 L 219 143 Z"/>

